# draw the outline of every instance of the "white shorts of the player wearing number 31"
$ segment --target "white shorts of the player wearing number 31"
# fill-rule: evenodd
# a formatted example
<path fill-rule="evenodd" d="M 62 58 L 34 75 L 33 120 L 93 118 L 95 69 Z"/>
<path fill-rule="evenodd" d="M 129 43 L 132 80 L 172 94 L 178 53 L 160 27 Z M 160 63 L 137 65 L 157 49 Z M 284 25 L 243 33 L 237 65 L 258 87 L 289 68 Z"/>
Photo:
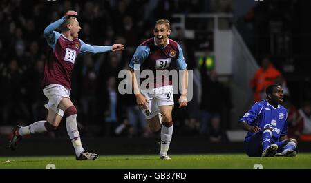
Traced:
<path fill-rule="evenodd" d="M 160 106 L 172 106 L 174 104 L 173 99 L 173 86 L 160 86 L 151 90 L 142 90 L 142 95 L 149 101 L 148 109 L 150 113 L 142 111 L 146 119 L 151 119 L 158 115 L 160 112 Z"/>

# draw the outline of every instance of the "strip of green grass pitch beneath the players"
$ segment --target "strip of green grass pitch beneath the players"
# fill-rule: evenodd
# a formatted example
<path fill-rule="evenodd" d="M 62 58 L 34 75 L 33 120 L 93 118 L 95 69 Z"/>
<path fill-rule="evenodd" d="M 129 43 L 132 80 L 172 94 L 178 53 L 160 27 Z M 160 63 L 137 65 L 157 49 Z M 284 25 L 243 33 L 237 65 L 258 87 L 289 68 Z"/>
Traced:
<path fill-rule="evenodd" d="M 172 160 L 159 160 L 158 155 L 100 155 L 94 161 L 77 161 L 74 156 L 0 157 L 0 168 L 45 169 L 55 164 L 57 169 L 252 169 L 311 168 L 311 153 L 296 157 L 247 157 L 245 154 L 170 155 Z"/>

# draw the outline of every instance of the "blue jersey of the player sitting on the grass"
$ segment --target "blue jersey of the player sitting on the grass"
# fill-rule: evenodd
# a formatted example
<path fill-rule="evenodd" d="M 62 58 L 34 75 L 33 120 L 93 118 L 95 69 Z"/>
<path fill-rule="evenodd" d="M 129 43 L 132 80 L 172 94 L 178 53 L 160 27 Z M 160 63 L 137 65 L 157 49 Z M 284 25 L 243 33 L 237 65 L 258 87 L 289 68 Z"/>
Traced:
<path fill-rule="evenodd" d="M 256 102 L 252 108 L 245 113 L 240 119 L 247 122 L 250 126 L 258 126 L 261 129 L 270 127 L 272 129 L 272 139 L 279 142 L 279 139 L 288 134 L 288 111 L 281 105 L 274 108 L 267 100 Z M 248 132 L 245 141 L 248 142 L 249 138 L 255 133 Z"/>

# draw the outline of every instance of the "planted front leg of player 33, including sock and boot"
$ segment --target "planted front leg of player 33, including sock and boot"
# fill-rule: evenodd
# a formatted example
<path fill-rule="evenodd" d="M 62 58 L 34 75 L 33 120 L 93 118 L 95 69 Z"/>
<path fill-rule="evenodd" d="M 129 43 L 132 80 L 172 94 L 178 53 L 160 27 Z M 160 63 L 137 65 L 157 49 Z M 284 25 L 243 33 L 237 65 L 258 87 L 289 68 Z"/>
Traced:
<path fill-rule="evenodd" d="M 76 160 L 95 160 L 98 155 L 88 153 L 82 147 L 80 134 L 77 128 L 77 109 L 69 98 L 62 98 L 59 103 L 59 108 L 62 109 L 66 116 L 67 133 L 75 148 Z"/>

